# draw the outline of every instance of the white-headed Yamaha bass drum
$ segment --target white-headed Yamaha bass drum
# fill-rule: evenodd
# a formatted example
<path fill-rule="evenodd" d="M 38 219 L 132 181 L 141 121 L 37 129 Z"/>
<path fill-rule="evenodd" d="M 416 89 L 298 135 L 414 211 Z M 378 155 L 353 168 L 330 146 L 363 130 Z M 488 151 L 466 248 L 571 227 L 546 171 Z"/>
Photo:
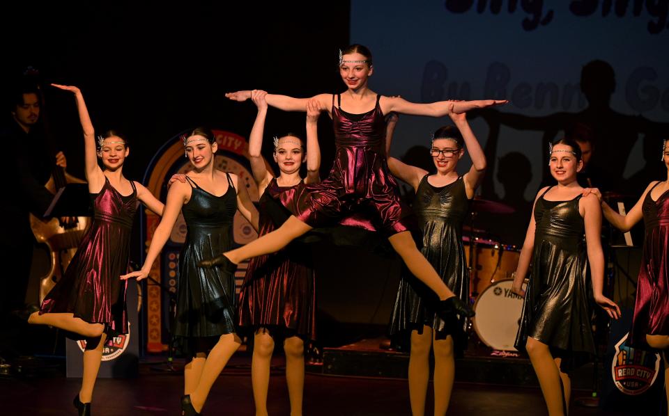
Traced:
<path fill-rule="evenodd" d="M 474 330 L 491 349 L 517 351 L 514 342 L 521 322 L 523 298 L 512 292 L 513 282 L 512 279 L 493 282 L 474 304 Z"/>

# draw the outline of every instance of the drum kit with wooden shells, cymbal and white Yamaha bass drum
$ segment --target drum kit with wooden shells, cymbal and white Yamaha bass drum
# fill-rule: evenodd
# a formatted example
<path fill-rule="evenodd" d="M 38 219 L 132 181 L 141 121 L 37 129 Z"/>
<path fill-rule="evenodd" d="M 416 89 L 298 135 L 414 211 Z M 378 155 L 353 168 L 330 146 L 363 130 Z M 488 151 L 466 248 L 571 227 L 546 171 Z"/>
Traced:
<path fill-rule="evenodd" d="M 493 350 L 516 351 L 514 342 L 521 318 L 523 298 L 512 292 L 520 250 L 502 243 L 474 227 L 476 214 L 512 214 L 514 208 L 482 198 L 471 205 L 470 225 L 463 227 L 465 255 L 470 271 L 470 299 L 476 316 L 472 329 Z"/>

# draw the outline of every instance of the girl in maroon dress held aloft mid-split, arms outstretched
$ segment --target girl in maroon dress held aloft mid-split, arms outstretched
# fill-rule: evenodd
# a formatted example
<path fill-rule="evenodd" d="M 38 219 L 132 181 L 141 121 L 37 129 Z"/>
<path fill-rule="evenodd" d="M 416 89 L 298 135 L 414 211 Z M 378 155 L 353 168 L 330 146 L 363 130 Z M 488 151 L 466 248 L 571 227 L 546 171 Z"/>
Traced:
<path fill-rule="evenodd" d="M 321 109 L 328 109 L 334 127 L 337 151 L 328 179 L 305 186 L 298 204 L 293 207 L 293 216 L 277 230 L 201 264 L 238 264 L 243 259 L 273 253 L 314 227 L 336 224 L 341 218 L 364 212 L 376 230 L 388 238 L 411 273 L 436 292 L 440 299 L 438 313 L 473 316 L 469 305 L 448 289 L 416 248 L 406 221 L 402 219 L 397 182 L 390 175 L 385 159 L 384 114 L 395 111 L 443 117 L 451 111 L 463 113 L 505 101 L 415 104 L 400 97 L 385 97 L 367 87 L 369 76 L 374 72 L 369 49 L 351 45 L 341 53 L 339 61 L 339 74 L 348 89 L 339 95 L 314 97 Z M 251 91 L 229 93 L 226 97 L 245 101 L 251 97 Z M 266 100 L 270 106 L 285 111 L 305 111 L 308 101 L 272 94 L 268 94 Z"/>

